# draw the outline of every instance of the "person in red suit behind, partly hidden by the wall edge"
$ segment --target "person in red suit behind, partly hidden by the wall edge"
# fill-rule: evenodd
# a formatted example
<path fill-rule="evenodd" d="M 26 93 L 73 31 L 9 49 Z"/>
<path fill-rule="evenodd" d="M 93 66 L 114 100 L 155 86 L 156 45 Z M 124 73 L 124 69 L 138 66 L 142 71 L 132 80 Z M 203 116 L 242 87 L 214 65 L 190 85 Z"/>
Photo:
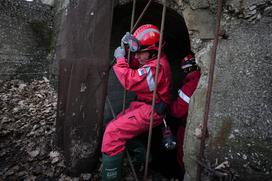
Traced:
<path fill-rule="evenodd" d="M 185 78 L 178 90 L 178 97 L 170 104 L 169 114 L 171 119 L 179 122 L 176 130 L 177 139 L 177 161 L 180 170 L 180 177 L 184 175 L 183 163 L 183 141 L 185 133 L 186 118 L 188 115 L 188 108 L 190 98 L 197 88 L 200 79 L 200 68 L 195 62 L 194 53 L 188 54 L 181 60 L 181 69 L 185 73 Z"/>

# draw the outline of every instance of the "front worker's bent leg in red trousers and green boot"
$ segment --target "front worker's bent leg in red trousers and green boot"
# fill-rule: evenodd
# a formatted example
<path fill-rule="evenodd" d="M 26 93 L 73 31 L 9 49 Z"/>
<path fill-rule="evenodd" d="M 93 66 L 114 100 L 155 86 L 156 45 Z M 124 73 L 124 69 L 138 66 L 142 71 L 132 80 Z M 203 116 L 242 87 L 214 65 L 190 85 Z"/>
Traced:
<path fill-rule="evenodd" d="M 103 142 L 103 174 L 102 180 L 119 180 L 121 177 L 122 155 L 127 140 L 145 132 L 149 128 L 151 106 L 144 103 L 132 103 L 125 114 L 120 113 L 106 127 Z M 161 118 L 154 115 L 154 126 Z M 119 154 L 121 155 L 119 157 Z M 118 161 L 116 161 L 116 157 Z M 116 164 L 114 164 L 116 163 Z"/>

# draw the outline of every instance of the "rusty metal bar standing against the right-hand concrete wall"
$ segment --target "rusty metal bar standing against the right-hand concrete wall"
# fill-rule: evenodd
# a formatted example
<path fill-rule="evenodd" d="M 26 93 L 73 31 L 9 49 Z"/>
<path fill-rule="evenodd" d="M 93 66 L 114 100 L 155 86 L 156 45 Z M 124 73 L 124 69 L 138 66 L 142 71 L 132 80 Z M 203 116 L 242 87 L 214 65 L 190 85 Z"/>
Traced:
<path fill-rule="evenodd" d="M 215 67 L 215 60 L 216 60 L 216 50 L 217 50 L 218 39 L 219 39 L 218 37 L 219 37 L 219 33 L 220 33 L 222 4 L 223 4 L 223 0 L 219 0 L 217 14 L 216 14 L 216 28 L 215 28 L 215 34 L 214 34 L 214 43 L 213 43 L 212 52 L 211 52 L 211 63 L 209 66 L 209 79 L 208 79 L 208 88 L 207 88 L 207 93 L 206 93 L 205 111 L 204 111 L 204 116 L 203 116 L 204 119 L 203 119 L 203 127 L 202 127 L 202 137 L 201 137 L 200 150 L 199 150 L 199 155 L 198 155 L 199 161 L 202 161 L 202 158 L 204 157 L 205 139 L 206 139 L 206 133 L 208 130 L 207 129 L 208 117 L 209 117 L 210 100 L 211 100 L 212 86 L 213 86 L 213 75 L 214 75 L 214 67 Z M 201 181 L 201 171 L 202 171 L 202 166 L 200 164 L 198 164 L 197 175 L 196 175 L 197 181 Z"/>

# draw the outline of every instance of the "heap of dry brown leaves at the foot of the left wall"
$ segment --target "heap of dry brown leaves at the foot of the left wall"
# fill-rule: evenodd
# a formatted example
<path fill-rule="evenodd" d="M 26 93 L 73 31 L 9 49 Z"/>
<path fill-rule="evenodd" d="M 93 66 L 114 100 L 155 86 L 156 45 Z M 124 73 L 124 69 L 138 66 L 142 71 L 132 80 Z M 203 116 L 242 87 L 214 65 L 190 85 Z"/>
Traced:
<path fill-rule="evenodd" d="M 57 95 L 49 81 L 0 81 L 0 180 L 58 178 Z"/>

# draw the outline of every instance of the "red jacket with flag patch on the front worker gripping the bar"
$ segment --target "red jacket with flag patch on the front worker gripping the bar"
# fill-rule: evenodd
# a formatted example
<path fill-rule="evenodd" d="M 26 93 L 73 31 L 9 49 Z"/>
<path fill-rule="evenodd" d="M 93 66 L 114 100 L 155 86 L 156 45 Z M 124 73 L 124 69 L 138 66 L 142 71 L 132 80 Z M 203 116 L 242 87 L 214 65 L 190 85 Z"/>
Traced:
<path fill-rule="evenodd" d="M 132 60 L 132 61 L 135 61 Z M 153 91 L 155 89 L 155 72 L 157 59 L 150 59 L 141 67 L 131 68 L 125 58 L 118 58 L 113 66 L 114 72 L 122 84 L 129 91 L 137 95 L 137 99 L 145 102 L 152 102 Z M 171 100 L 171 70 L 167 57 L 163 54 L 160 59 L 158 75 L 156 103 L 163 101 L 170 104 Z"/>

